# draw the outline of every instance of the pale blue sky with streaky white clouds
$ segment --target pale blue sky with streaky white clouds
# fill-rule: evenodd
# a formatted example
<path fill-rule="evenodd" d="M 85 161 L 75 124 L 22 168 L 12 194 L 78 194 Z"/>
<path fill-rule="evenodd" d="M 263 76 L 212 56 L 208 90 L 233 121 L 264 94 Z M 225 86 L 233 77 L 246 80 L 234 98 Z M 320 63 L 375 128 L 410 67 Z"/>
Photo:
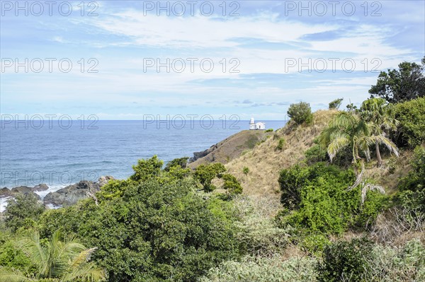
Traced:
<path fill-rule="evenodd" d="M 425 1 L 1 1 L 0 114 L 283 120 L 425 54 Z"/>

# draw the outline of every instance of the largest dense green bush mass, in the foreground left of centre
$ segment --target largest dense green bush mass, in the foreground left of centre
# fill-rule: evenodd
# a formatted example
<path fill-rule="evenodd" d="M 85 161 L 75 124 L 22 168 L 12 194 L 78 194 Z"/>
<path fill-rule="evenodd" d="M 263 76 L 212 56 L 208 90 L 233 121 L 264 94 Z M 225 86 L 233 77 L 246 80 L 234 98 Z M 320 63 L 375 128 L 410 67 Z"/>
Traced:
<path fill-rule="evenodd" d="M 45 213 L 44 236 L 55 228 L 97 247 L 92 259 L 109 281 L 197 281 L 211 267 L 237 259 L 235 227 L 210 210 L 192 180 L 126 182 L 120 196 L 80 201 Z M 114 195 L 118 195 L 116 191 Z M 212 197 L 211 197 L 212 198 Z M 223 204 L 227 206 L 227 204 Z"/>

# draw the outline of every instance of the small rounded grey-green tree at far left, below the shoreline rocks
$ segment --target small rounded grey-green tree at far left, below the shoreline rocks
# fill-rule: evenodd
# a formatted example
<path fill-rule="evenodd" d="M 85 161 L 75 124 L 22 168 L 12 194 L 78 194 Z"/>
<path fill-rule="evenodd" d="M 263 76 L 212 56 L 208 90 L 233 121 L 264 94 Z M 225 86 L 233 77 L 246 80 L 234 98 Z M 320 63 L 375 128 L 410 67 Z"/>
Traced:
<path fill-rule="evenodd" d="M 6 227 L 16 231 L 31 221 L 37 221 L 44 210 L 45 206 L 34 194 L 18 194 L 8 200 L 4 213 Z"/>

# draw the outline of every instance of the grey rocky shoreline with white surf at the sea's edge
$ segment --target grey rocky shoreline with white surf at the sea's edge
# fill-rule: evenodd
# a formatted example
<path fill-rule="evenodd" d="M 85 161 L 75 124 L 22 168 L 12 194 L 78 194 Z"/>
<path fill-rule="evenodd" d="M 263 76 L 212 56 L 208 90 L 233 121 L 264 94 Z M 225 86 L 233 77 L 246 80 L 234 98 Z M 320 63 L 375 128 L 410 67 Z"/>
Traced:
<path fill-rule="evenodd" d="M 42 201 L 45 206 L 71 206 L 77 204 L 77 201 L 93 197 L 101 187 L 107 184 L 110 180 L 113 180 L 112 176 L 102 176 L 96 182 L 82 180 L 75 184 L 68 185 L 55 192 L 49 192 L 43 198 L 36 192 L 47 191 L 49 187 L 47 184 L 38 184 L 35 187 L 18 186 L 8 189 L 7 187 L 0 189 L 0 199 L 8 200 L 18 194 L 33 194 L 37 199 Z"/>

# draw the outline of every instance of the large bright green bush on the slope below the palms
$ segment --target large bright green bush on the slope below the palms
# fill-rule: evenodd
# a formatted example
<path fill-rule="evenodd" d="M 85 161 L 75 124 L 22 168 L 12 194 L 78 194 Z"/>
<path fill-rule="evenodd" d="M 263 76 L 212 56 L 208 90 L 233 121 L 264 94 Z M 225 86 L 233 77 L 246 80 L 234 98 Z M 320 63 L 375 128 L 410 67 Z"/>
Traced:
<path fill-rule="evenodd" d="M 282 227 L 290 225 L 323 234 L 344 232 L 368 218 L 361 206 L 360 187 L 347 191 L 354 179 L 353 170 L 327 163 L 307 168 L 295 165 L 282 170 L 278 181 L 282 191 L 280 201 L 286 210 L 276 220 Z M 378 208 L 374 211 L 378 212 Z"/>

